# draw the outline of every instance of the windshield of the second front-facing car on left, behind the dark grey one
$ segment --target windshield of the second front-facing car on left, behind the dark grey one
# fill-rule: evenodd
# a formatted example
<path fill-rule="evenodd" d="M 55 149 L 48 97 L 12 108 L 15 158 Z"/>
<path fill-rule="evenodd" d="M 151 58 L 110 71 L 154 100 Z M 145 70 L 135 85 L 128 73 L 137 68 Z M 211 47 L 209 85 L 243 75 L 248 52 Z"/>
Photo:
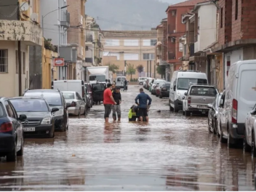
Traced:
<path fill-rule="evenodd" d="M 47 100 L 49 105 L 60 106 L 62 104 L 62 100 L 59 92 L 26 92 L 26 97 L 44 97 Z"/>

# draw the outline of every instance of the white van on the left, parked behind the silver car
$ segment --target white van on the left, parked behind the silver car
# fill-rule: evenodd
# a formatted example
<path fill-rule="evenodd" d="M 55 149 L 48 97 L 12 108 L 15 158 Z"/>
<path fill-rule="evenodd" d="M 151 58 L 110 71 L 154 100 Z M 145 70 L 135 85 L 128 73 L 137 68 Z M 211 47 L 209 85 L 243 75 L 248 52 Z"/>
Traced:
<path fill-rule="evenodd" d="M 85 86 L 82 80 L 58 80 L 52 81 L 52 89 L 59 89 L 60 92 L 71 91 L 78 92 L 85 100 Z"/>

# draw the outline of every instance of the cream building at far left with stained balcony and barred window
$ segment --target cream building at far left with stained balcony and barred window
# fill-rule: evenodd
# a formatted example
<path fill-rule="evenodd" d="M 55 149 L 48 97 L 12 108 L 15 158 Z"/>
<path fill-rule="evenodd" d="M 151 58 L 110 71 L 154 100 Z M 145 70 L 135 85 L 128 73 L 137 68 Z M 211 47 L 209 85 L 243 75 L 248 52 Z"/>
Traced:
<path fill-rule="evenodd" d="M 41 46 L 43 42 L 39 0 L 30 4 L 1 0 L 0 12 L 0 89 L 4 90 L 1 96 L 15 97 L 30 85 L 29 46 Z"/>

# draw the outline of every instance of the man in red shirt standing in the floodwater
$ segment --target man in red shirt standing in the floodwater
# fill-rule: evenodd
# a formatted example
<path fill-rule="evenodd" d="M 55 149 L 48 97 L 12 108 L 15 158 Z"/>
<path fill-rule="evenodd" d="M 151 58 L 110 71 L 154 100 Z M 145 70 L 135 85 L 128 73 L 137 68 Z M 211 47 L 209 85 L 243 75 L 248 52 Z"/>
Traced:
<path fill-rule="evenodd" d="M 109 115 L 111 114 L 112 105 L 116 105 L 115 100 L 112 96 L 112 84 L 108 84 L 107 89 L 105 89 L 103 94 L 103 104 L 105 107 L 105 123 L 108 123 Z"/>

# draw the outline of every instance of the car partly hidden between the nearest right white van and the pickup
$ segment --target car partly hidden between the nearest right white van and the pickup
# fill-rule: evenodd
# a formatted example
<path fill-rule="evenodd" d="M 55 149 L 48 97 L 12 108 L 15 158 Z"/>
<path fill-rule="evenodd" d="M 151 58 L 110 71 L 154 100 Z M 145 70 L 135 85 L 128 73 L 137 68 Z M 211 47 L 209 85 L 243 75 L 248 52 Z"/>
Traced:
<path fill-rule="evenodd" d="M 219 135 L 219 129 L 217 127 L 217 114 L 219 111 L 220 98 L 222 95 L 223 93 L 217 93 L 213 103 L 208 104 L 208 129 L 209 132 L 214 132 L 217 135 Z"/>

